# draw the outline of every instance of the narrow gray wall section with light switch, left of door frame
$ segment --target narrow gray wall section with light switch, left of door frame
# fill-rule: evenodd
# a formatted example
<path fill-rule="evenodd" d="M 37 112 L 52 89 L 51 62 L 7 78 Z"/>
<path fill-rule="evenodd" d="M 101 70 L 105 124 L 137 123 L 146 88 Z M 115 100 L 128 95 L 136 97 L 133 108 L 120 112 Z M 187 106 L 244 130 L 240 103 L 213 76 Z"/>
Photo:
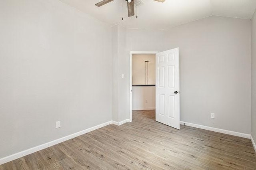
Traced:
<path fill-rule="evenodd" d="M 126 28 L 115 25 L 112 27 L 112 64 L 113 64 L 113 85 L 112 85 L 112 109 L 113 121 L 124 121 L 129 119 L 129 57 L 122 57 L 128 55 L 126 51 Z M 122 79 L 122 74 L 125 78 Z M 128 96 L 128 97 L 127 97 Z"/>

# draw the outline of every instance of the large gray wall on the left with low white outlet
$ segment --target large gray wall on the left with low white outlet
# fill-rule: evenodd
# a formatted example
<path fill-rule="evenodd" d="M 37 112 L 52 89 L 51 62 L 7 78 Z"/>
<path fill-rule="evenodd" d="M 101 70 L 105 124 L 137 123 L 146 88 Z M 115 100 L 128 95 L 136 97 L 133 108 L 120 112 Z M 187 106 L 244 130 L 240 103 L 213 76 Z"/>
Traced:
<path fill-rule="evenodd" d="M 110 26 L 57 0 L 1 0 L 0 37 L 0 158 L 112 120 Z"/>

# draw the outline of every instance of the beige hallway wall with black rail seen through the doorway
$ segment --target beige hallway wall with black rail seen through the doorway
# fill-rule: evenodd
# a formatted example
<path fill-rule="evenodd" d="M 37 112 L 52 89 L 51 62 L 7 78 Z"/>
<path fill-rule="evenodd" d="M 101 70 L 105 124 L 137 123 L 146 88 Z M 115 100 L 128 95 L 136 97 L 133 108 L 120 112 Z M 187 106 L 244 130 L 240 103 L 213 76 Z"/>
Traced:
<path fill-rule="evenodd" d="M 156 54 L 132 54 L 132 113 L 155 109 Z"/>

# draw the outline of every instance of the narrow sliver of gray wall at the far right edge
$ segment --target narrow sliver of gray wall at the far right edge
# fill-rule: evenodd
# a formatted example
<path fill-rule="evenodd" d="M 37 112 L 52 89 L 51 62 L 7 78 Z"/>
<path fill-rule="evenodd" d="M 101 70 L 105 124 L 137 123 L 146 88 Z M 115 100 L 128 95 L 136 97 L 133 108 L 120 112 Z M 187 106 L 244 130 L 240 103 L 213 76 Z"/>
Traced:
<path fill-rule="evenodd" d="M 256 141 L 256 12 L 252 18 L 252 137 Z"/>

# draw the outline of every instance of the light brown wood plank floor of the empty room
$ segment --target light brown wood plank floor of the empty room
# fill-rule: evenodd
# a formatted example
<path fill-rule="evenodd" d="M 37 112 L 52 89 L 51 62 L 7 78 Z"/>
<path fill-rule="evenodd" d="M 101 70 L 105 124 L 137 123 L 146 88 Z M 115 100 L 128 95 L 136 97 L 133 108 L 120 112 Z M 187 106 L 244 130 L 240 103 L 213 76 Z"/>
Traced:
<path fill-rule="evenodd" d="M 133 111 L 132 123 L 108 125 L 12 162 L 0 170 L 256 170 L 249 139 L 155 121 Z"/>

